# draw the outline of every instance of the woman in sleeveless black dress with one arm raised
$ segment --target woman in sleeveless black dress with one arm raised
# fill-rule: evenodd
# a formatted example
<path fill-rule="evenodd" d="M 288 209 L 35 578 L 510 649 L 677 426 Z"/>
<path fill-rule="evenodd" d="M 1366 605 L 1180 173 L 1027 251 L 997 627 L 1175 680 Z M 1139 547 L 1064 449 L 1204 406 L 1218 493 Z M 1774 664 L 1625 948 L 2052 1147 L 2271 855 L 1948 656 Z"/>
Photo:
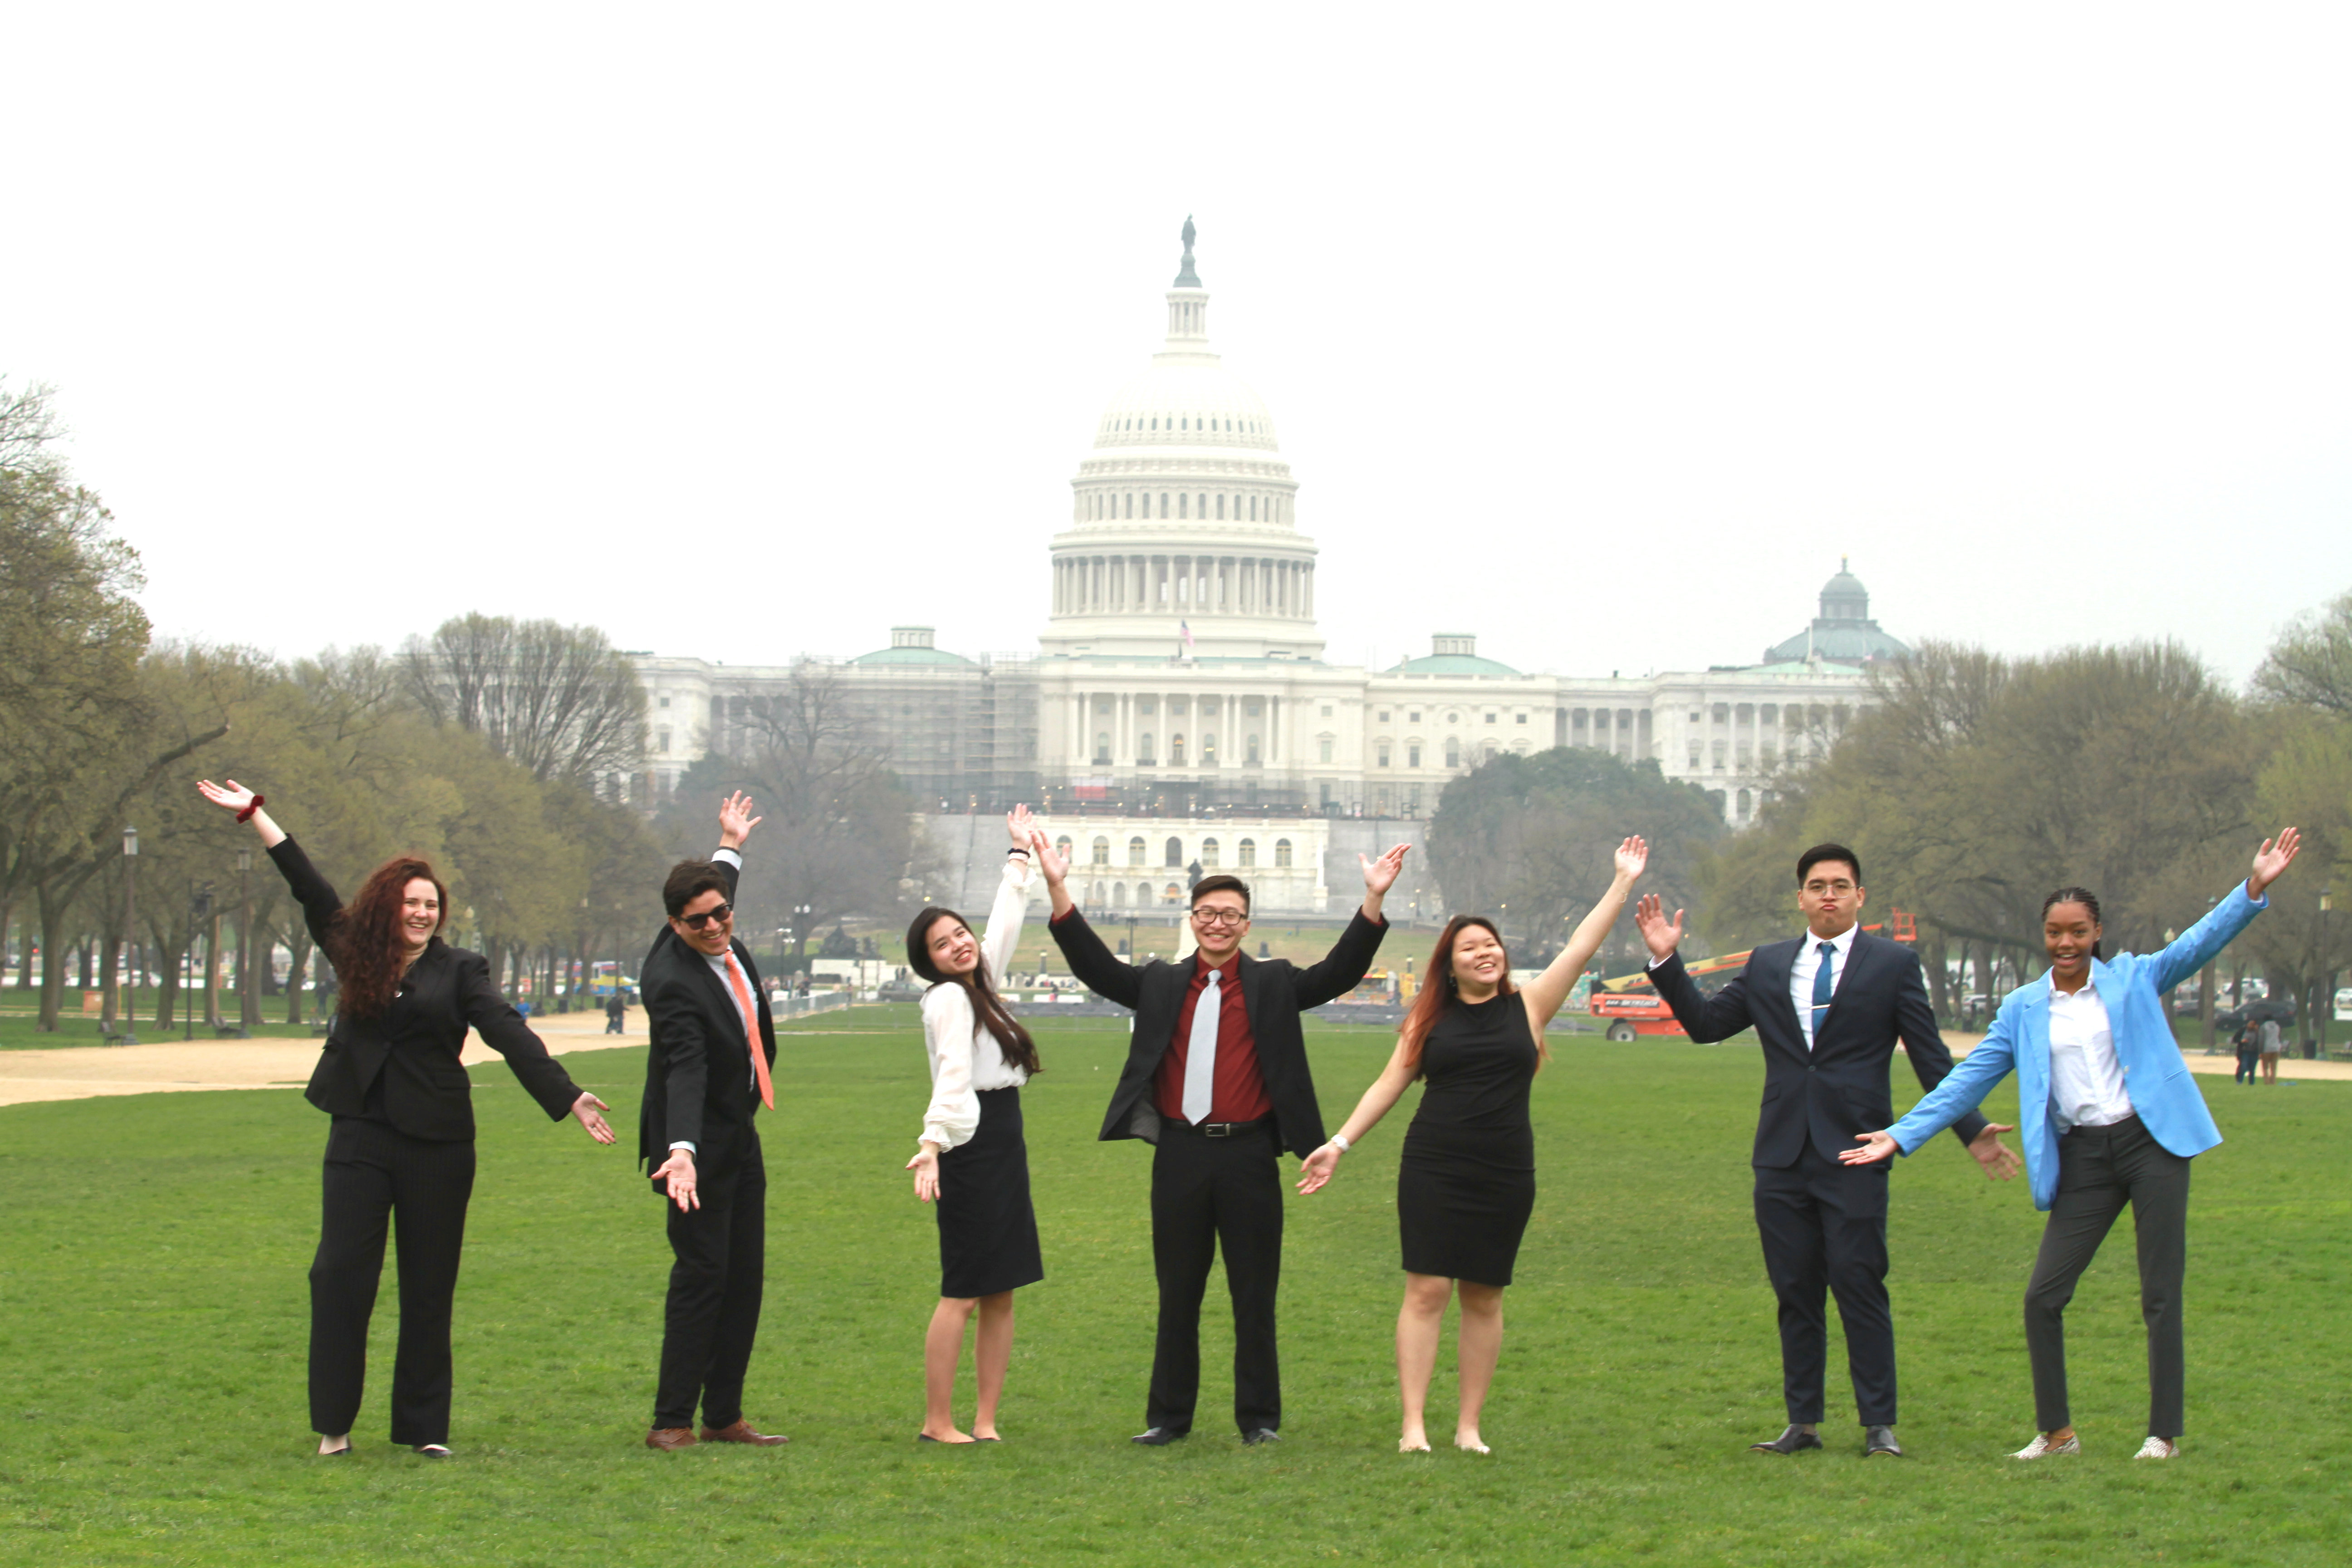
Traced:
<path fill-rule="evenodd" d="M 1397 1312 L 1397 1387 L 1404 1394 L 1399 1453 L 1428 1453 L 1423 1410 L 1437 1366 L 1446 1300 L 1461 1291 L 1461 1413 L 1454 1446 L 1486 1453 L 1479 1413 L 1503 1349 L 1503 1286 L 1536 1206 L 1536 1133 L 1526 1091 L 1550 1060 L 1543 1027 L 1569 999 L 1576 976 L 1616 924 L 1649 844 L 1625 839 L 1616 879 L 1552 966 L 1526 990 L 1510 983 L 1510 954 L 1482 914 L 1456 914 L 1430 954 L 1428 980 L 1397 1032 L 1388 1067 L 1357 1100 L 1348 1124 L 1303 1166 L 1298 1192 L 1331 1180 L 1338 1157 L 1378 1126 L 1414 1079 L 1421 1110 L 1397 1164 L 1397 1229 L 1404 1237 L 1404 1307 Z"/>

